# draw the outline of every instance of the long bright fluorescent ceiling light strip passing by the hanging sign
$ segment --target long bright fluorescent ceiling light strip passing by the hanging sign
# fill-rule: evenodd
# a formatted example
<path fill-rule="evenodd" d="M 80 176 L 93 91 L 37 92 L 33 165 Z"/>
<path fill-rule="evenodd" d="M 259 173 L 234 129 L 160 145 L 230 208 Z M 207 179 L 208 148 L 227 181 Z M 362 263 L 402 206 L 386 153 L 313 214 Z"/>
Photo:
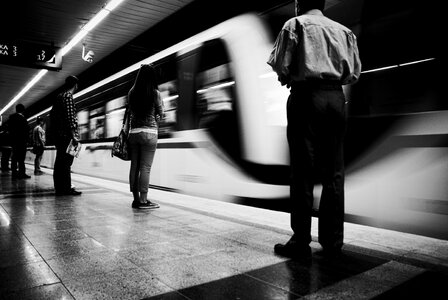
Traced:
<path fill-rule="evenodd" d="M 81 28 L 74 38 L 68 42 L 61 49 L 61 55 L 67 54 L 80 40 L 82 40 L 90 30 L 95 28 L 112 10 L 114 10 L 121 2 L 124 0 L 112 0 L 110 1 L 100 12 L 98 12 L 86 25 Z M 31 89 L 41 78 L 44 76 L 48 70 L 40 70 L 39 73 L 5 106 L 0 110 L 0 115 L 3 114 L 8 108 L 16 103 L 29 89 Z M 39 115 L 39 114 L 38 114 Z M 37 115 L 36 115 L 37 116 Z M 33 116 L 34 117 L 34 116 Z M 33 118 L 31 117 L 31 118 Z"/>

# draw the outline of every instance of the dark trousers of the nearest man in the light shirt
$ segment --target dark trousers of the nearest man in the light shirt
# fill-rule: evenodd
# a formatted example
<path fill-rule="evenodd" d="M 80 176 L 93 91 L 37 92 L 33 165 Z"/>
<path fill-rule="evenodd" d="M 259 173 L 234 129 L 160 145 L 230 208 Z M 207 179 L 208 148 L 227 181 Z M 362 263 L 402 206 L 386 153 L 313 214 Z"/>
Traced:
<path fill-rule="evenodd" d="M 296 84 L 287 103 L 287 137 L 291 159 L 291 242 L 311 242 L 313 189 L 322 183 L 319 243 L 340 249 L 344 235 L 343 139 L 347 116 L 340 85 Z"/>

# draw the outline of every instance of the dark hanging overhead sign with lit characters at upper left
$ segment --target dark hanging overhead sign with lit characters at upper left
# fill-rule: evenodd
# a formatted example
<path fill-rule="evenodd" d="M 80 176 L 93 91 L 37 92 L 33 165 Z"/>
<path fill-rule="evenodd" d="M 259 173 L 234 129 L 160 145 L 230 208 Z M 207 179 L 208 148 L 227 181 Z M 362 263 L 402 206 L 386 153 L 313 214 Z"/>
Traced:
<path fill-rule="evenodd" d="M 59 71 L 62 56 L 53 46 L 0 40 L 0 64 Z"/>

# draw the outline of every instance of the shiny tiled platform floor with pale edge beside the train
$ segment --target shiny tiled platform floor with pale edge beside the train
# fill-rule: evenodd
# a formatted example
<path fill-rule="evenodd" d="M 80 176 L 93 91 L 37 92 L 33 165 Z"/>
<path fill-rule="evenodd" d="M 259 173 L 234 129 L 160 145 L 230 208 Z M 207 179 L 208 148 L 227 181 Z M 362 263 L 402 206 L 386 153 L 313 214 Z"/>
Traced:
<path fill-rule="evenodd" d="M 28 170 L 32 174 L 32 170 Z M 1 174 L 0 299 L 445 299 L 448 241 L 346 223 L 343 255 L 276 256 L 289 215 L 151 190 L 131 208 L 125 183 L 51 170 Z"/>

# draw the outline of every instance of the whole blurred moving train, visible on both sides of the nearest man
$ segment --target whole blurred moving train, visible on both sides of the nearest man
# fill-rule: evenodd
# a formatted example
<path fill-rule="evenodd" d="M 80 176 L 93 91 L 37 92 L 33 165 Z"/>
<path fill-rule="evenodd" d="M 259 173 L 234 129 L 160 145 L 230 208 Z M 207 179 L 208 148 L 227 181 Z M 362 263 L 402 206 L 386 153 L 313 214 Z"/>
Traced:
<path fill-rule="evenodd" d="M 414 17 L 414 7 L 398 2 L 402 6 L 379 13 L 369 6 L 373 1 L 347 0 L 352 18 L 338 5 L 325 11 L 359 36 L 363 61 L 360 81 L 344 87 L 350 103 L 346 220 L 447 239 L 448 105 L 441 81 L 425 76 L 442 66 L 428 50 L 437 48 L 431 37 L 428 49 L 409 53 L 398 53 L 409 46 L 407 38 L 387 39 L 402 36 L 403 20 Z M 281 23 L 282 11 L 293 8 L 277 10 Z M 273 23 L 237 16 L 75 94 L 84 151 L 73 172 L 127 182 L 129 162 L 111 157 L 110 147 L 136 72 L 151 63 L 166 110 L 151 186 L 225 201 L 287 199 L 289 91 L 266 64 L 280 30 Z M 378 32 L 387 46 L 376 44 Z M 42 165 L 52 168 L 54 156 L 48 147 Z M 319 185 L 315 195 L 318 207 Z"/>

